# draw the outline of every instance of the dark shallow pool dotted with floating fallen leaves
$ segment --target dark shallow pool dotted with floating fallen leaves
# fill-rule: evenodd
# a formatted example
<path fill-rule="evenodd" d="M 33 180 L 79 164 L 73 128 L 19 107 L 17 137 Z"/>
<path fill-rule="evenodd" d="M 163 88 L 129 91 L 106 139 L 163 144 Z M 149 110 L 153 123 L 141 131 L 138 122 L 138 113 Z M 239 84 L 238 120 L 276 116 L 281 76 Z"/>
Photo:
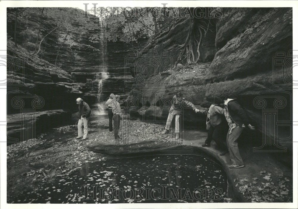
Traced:
<path fill-rule="evenodd" d="M 154 155 L 87 162 L 14 203 L 223 202 L 226 174 L 201 155 Z"/>

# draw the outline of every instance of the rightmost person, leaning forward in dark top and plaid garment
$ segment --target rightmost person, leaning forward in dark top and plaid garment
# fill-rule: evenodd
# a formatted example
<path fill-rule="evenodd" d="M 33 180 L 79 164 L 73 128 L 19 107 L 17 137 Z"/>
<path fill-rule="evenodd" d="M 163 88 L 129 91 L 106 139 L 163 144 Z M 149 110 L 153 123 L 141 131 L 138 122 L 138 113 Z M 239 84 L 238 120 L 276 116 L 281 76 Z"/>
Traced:
<path fill-rule="evenodd" d="M 254 127 L 249 124 L 245 111 L 235 99 L 224 100 L 224 115 L 229 125 L 229 131 L 226 135 L 226 143 L 232 161 L 229 168 L 242 168 L 244 163 L 239 153 L 237 140 L 245 127 L 251 130 L 254 130 Z"/>

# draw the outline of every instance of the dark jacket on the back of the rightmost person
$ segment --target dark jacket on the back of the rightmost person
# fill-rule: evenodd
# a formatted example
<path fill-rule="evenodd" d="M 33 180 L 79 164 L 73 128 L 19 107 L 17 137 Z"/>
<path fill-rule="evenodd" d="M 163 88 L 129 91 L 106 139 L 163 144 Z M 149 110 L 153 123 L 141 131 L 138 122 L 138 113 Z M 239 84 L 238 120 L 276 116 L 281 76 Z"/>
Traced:
<path fill-rule="evenodd" d="M 229 101 L 227 107 L 230 117 L 237 125 L 242 126 L 244 124 L 247 126 L 249 124 L 245 111 L 236 100 Z"/>

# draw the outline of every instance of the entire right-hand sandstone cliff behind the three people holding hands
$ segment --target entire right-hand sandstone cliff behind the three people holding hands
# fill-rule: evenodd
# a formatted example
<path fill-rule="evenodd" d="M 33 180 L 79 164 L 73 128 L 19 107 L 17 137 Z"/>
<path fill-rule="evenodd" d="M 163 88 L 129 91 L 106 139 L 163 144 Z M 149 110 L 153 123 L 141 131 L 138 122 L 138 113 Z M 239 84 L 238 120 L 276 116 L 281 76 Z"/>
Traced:
<path fill-rule="evenodd" d="M 251 124 L 256 126 L 258 132 L 254 133 L 253 141 L 260 145 L 262 134 L 274 135 L 272 131 L 263 129 L 263 110 L 276 110 L 278 120 L 291 121 L 292 69 L 289 66 L 292 59 L 292 9 L 223 8 L 221 12 L 221 18 L 215 20 L 215 32 L 207 33 L 202 39 L 200 65 L 177 65 L 172 72 L 159 74 L 150 69 L 149 75 L 160 75 L 164 86 L 160 88 L 160 82 L 153 85 L 156 89 L 140 89 L 134 85 L 133 94 L 145 99 L 132 112 L 136 113 L 138 109 L 145 112 L 145 118 L 155 117 L 164 121 L 168 107 L 162 108 L 158 102 L 153 102 L 159 101 L 154 98 L 171 98 L 176 91 L 182 91 L 195 105 L 202 106 L 223 101 L 225 97 L 236 97 L 246 110 Z M 168 52 L 175 60 L 179 52 L 178 44 L 186 39 L 187 26 L 187 20 L 176 24 L 148 49 L 155 49 L 159 54 Z M 276 62 L 276 59 L 283 61 Z M 208 62 L 211 64 L 208 65 Z M 184 74 L 179 68 L 183 68 Z M 169 82 L 172 79 L 174 82 Z M 202 117 L 185 114 L 184 122 L 197 125 L 195 121 L 203 121 Z M 287 138 L 285 141 L 291 142 L 291 127 L 278 129 L 278 136 L 274 138 Z M 278 144 L 291 152 L 291 143 Z"/>

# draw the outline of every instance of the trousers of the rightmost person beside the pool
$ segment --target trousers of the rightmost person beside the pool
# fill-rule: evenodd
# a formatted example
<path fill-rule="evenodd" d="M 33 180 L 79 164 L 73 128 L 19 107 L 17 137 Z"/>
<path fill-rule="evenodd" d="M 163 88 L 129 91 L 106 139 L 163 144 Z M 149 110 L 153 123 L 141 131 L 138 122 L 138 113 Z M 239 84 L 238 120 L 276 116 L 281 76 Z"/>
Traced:
<path fill-rule="evenodd" d="M 228 131 L 228 134 L 226 135 L 226 144 L 230 152 L 230 159 L 232 161 L 232 165 L 243 165 L 243 160 L 240 156 L 237 143 L 237 140 L 240 134 L 242 133 L 243 129 L 243 127 L 236 127 L 232 130 L 232 133 Z"/>

